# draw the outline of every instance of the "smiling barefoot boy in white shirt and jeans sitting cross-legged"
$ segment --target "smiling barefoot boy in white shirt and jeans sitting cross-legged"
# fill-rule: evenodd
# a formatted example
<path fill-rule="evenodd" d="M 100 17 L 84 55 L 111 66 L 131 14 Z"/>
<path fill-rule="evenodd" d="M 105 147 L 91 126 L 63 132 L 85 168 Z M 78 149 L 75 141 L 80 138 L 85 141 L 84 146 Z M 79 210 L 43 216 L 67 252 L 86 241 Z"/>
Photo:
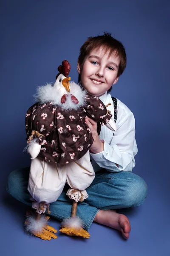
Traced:
<path fill-rule="evenodd" d="M 109 94 L 125 67 L 125 48 L 108 33 L 88 38 L 80 48 L 77 64 L 79 83 L 105 105 L 111 103 L 108 109 L 115 116 L 117 131 L 113 134 L 102 126 L 98 136 L 96 122 L 86 118 L 94 138 L 90 151 L 96 177 L 86 189 L 89 197 L 79 203 L 77 215 L 84 221 L 85 230 L 96 221 L 120 230 L 122 236 L 128 239 L 129 220 L 115 209 L 142 204 L 147 196 L 147 185 L 141 177 L 132 173 L 137 154 L 133 113 L 118 99 L 115 105 L 117 110 L 114 110 Z M 8 177 L 7 190 L 19 201 L 31 205 L 27 192 L 28 175 L 29 168 L 12 172 Z M 51 215 L 62 221 L 71 215 L 71 207 L 72 202 L 64 189 L 58 200 L 50 205 Z"/>

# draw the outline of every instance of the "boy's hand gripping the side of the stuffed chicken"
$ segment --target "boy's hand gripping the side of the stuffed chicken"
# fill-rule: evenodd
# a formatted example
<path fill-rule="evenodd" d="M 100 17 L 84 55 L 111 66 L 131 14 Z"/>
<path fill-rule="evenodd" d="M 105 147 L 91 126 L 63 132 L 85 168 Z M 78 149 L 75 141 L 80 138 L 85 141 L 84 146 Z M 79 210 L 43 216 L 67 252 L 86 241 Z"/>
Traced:
<path fill-rule="evenodd" d="M 102 152 L 104 150 L 104 143 L 102 143 L 102 141 L 99 139 L 99 135 L 97 133 L 97 122 L 88 116 L 85 117 L 85 122 L 91 129 L 91 135 L 94 138 L 94 142 L 90 148 L 91 153 L 96 154 Z"/>

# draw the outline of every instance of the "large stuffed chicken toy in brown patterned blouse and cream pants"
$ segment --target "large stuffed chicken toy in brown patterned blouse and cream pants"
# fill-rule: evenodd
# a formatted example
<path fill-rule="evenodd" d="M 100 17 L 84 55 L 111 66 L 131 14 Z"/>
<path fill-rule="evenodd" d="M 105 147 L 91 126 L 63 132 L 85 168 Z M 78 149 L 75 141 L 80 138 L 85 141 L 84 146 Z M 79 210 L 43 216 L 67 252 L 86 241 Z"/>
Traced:
<path fill-rule="evenodd" d="M 71 218 L 62 221 L 60 230 L 70 236 L 89 238 L 77 217 L 77 203 L 88 198 L 86 188 L 94 180 L 89 149 L 93 143 L 85 116 L 116 131 L 107 106 L 96 96 L 70 81 L 70 64 L 62 61 L 55 83 L 37 88 L 36 103 L 26 113 L 27 151 L 31 155 L 28 192 L 36 213 L 28 214 L 26 230 L 42 239 L 57 236 L 47 225 L 50 203 L 56 201 L 65 183 L 70 186 L 66 195 L 73 200 Z"/>

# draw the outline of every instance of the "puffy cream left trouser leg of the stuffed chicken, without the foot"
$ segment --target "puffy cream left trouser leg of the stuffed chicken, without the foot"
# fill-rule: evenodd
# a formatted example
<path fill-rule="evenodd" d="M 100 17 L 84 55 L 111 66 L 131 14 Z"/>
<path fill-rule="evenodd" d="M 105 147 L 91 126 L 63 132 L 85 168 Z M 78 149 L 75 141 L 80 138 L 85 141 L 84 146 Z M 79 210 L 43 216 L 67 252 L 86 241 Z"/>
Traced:
<path fill-rule="evenodd" d="M 31 160 L 28 192 L 38 203 L 45 201 L 50 204 L 57 201 L 62 193 L 66 177 L 65 165 L 57 165 L 36 157 Z"/>

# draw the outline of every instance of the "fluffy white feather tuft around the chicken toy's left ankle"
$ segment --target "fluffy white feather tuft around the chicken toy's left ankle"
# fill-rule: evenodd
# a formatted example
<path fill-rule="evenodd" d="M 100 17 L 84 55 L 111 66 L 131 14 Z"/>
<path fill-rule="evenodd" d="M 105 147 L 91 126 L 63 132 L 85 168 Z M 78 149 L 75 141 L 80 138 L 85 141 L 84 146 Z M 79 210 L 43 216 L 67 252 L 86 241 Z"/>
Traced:
<path fill-rule="evenodd" d="M 26 225 L 26 232 L 29 233 L 42 233 L 43 229 L 46 227 L 48 219 L 45 218 L 45 214 L 41 214 L 40 220 L 36 220 L 35 215 L 27 216 L 26 221 L 28 224 Z"/>

